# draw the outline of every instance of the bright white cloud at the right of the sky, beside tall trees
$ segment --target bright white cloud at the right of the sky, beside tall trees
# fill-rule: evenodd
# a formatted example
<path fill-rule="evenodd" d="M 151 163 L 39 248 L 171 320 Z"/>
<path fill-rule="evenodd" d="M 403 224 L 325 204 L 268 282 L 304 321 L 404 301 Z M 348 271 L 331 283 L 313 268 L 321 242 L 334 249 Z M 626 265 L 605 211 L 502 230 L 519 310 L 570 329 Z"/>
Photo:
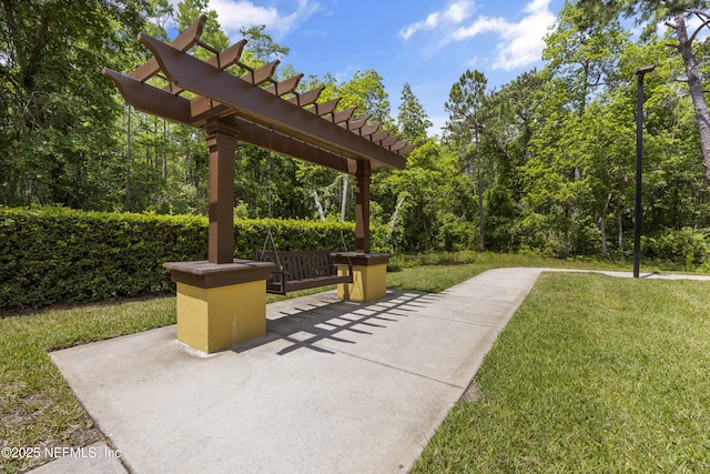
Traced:
<path fill-rule="evenodd" d="M 556 17 L 549 9 L 550 0 L 532 0 L 523 12 L 519 21 L 505 18 L 479 17 L 468 27 L 457 29 L 453 41 L 464 41 L 477 34 L 493 32 L 500 37 L 496 48 L 494 69 L 509 71 L 539 61 L 545 48 L 545 34 L 555 24 Z"/>

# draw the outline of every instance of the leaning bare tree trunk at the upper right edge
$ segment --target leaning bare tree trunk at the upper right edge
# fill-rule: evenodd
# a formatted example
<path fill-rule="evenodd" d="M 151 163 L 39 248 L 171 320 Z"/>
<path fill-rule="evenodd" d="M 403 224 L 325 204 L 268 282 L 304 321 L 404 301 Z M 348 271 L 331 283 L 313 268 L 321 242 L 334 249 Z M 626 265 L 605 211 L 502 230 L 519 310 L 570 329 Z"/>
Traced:
<path fill-rule="evenodd" d="M 678 36 L 678 49 L 683 57 L 686 64 L 686 73 L 688 74 L 688 85 L 690 87 L 690 97 L 696 110 L 696 123 L 700 132 L 700 150 L 702 151 L 702 165 L 706 170 L 706 182 L 710 189 L 710 114 L 708 113 L 708 104 L 702 92 L 702 82 L 700 81 L 700 72 L 698 70 L 698 61 L 692 52 L 692 39 L 688 38 L 686 28 L 686 18 L 683 12 L 676 14 L 676 29 Z"/>

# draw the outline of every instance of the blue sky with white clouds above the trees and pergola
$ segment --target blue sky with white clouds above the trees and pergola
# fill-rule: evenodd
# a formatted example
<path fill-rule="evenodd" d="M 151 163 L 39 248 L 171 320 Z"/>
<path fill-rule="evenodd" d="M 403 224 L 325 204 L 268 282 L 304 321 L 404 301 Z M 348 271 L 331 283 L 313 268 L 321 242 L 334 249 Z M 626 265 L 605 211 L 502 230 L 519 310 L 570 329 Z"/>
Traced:
<path fill-rule="evenodd" d="M 174 0 L 176 2 L 176 0 Z M 244 27 L 265 24 L 291 49 L 284 62 L 306 77 L 347 80 L 374 69 L 396 118 L 408 82 L 439 132 L 444 103 L 466 69 L 489 88 L 540 67 L 542 37 L 564 0 L 210 0 L 232 42 Z"/>

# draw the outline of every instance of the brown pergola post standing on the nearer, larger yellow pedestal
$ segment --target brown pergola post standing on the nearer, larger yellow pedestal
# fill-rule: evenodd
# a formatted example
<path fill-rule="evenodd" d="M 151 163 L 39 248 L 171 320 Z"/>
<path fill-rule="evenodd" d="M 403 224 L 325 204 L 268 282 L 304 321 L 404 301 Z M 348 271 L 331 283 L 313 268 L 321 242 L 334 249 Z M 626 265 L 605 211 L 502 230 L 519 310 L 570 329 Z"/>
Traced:
<path fill-rule="evenodd" d="M 210 148 L 210 263 L 234 261 L 234 127 L 213 120 L 205 125 Z"/>

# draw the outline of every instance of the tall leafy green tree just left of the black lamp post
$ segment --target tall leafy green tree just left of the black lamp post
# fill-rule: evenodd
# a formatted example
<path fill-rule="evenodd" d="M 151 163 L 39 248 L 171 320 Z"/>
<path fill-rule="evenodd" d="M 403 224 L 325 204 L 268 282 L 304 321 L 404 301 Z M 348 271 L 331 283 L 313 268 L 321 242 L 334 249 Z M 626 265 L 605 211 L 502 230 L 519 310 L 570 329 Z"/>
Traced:
<path fill-rule="evenodd" d="M 582 235 L 595 214 L 601 246 L 606 246 L 605 209 L 612 191 L 607 181 L 586 174 L 598 170 L 590 163 L 608 160 L 604 149 L 591 147 L 595 138 L 588 133 L 588 109 L 596 98 L 619 83 L 618 58 L 627 44 L 628 33 L 618 21 L 587 21 L 582 9 L 570 2 L 546 38 L 545 93 L 539 95 L 536 111 L 535 152 L 526 164 L 530 178 L 528 203 L 542 211 L 546 225 L 561 232 L 562 256 L 575 243 L 578 249 L 587 246 Z"/>

